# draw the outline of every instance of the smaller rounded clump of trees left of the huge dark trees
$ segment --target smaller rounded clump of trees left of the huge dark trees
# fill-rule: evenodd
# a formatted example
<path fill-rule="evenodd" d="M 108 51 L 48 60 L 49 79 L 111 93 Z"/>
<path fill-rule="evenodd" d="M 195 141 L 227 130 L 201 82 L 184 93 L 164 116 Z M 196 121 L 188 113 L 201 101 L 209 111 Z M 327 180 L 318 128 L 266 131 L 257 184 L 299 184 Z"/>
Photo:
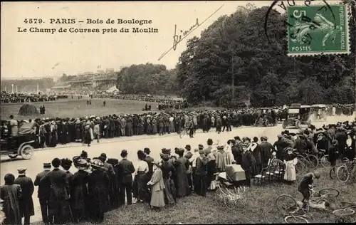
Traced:
<path fill-rule="evenodd" d="M 177 73 L 164 65 L 152 63 L 121 68 L 117 88 L 126 94 L 174 94 L 177 92 Z"/>

